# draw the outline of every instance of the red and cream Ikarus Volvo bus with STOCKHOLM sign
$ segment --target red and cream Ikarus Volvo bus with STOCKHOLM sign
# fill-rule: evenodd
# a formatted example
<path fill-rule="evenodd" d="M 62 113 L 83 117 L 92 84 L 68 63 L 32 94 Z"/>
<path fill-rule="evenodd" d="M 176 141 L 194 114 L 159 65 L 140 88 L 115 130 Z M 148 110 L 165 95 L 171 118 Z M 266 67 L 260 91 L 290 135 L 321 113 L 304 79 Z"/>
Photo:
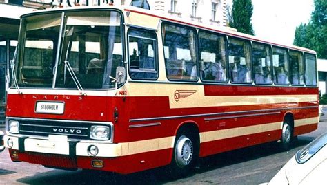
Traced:
<path fill-rule="evenodd" d="M 21 17 L 14 162 L 128 174 L 317 129 L 316 52 L 130 6 Z"/>

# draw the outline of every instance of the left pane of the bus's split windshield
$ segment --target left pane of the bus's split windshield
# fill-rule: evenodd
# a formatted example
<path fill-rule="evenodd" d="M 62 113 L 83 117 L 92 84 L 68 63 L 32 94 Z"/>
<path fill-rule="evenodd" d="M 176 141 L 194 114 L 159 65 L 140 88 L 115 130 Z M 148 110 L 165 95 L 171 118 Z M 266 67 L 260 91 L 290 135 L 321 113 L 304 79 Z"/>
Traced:
<path fill-rule="evenodd" d="M 52 68 L 61 14 L 22 19 L 23 41 L 19 47 L 17 82 L 20 87 L 52 87 Z"/>

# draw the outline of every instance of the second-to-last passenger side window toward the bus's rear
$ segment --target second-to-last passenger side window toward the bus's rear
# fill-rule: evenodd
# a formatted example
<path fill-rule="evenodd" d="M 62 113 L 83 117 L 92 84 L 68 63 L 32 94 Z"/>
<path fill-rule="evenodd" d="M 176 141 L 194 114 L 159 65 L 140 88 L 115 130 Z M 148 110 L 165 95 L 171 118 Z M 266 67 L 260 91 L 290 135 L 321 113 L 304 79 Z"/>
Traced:
<path fill-rule="evenodd" d="M 301 52 L 290 51 L 290 83 L 304 85 L 304 67 Z"/>

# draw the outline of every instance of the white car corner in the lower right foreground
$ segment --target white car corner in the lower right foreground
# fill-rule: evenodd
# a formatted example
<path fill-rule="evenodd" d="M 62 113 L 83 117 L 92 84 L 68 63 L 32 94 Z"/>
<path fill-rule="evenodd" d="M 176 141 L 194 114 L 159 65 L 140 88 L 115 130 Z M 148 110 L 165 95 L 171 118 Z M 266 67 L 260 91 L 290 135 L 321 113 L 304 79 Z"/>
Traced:
<path fill-rule="evenodd" d="M 274 184 L 326 184 L 327 132 L 295 154 L 268 182 Z"/>

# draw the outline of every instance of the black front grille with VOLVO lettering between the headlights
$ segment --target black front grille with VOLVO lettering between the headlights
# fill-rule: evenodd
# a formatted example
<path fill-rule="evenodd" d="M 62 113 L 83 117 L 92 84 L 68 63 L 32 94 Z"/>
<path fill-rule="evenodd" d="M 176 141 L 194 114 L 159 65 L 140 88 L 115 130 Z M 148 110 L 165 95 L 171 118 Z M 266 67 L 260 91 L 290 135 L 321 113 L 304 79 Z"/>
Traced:
<path fill-rule="evenodd" d="M 26 135 L 67 135 L 73 139 L 89 139 L 90 124 L 51 120 L 19 120 L 19 133 Z"/>

